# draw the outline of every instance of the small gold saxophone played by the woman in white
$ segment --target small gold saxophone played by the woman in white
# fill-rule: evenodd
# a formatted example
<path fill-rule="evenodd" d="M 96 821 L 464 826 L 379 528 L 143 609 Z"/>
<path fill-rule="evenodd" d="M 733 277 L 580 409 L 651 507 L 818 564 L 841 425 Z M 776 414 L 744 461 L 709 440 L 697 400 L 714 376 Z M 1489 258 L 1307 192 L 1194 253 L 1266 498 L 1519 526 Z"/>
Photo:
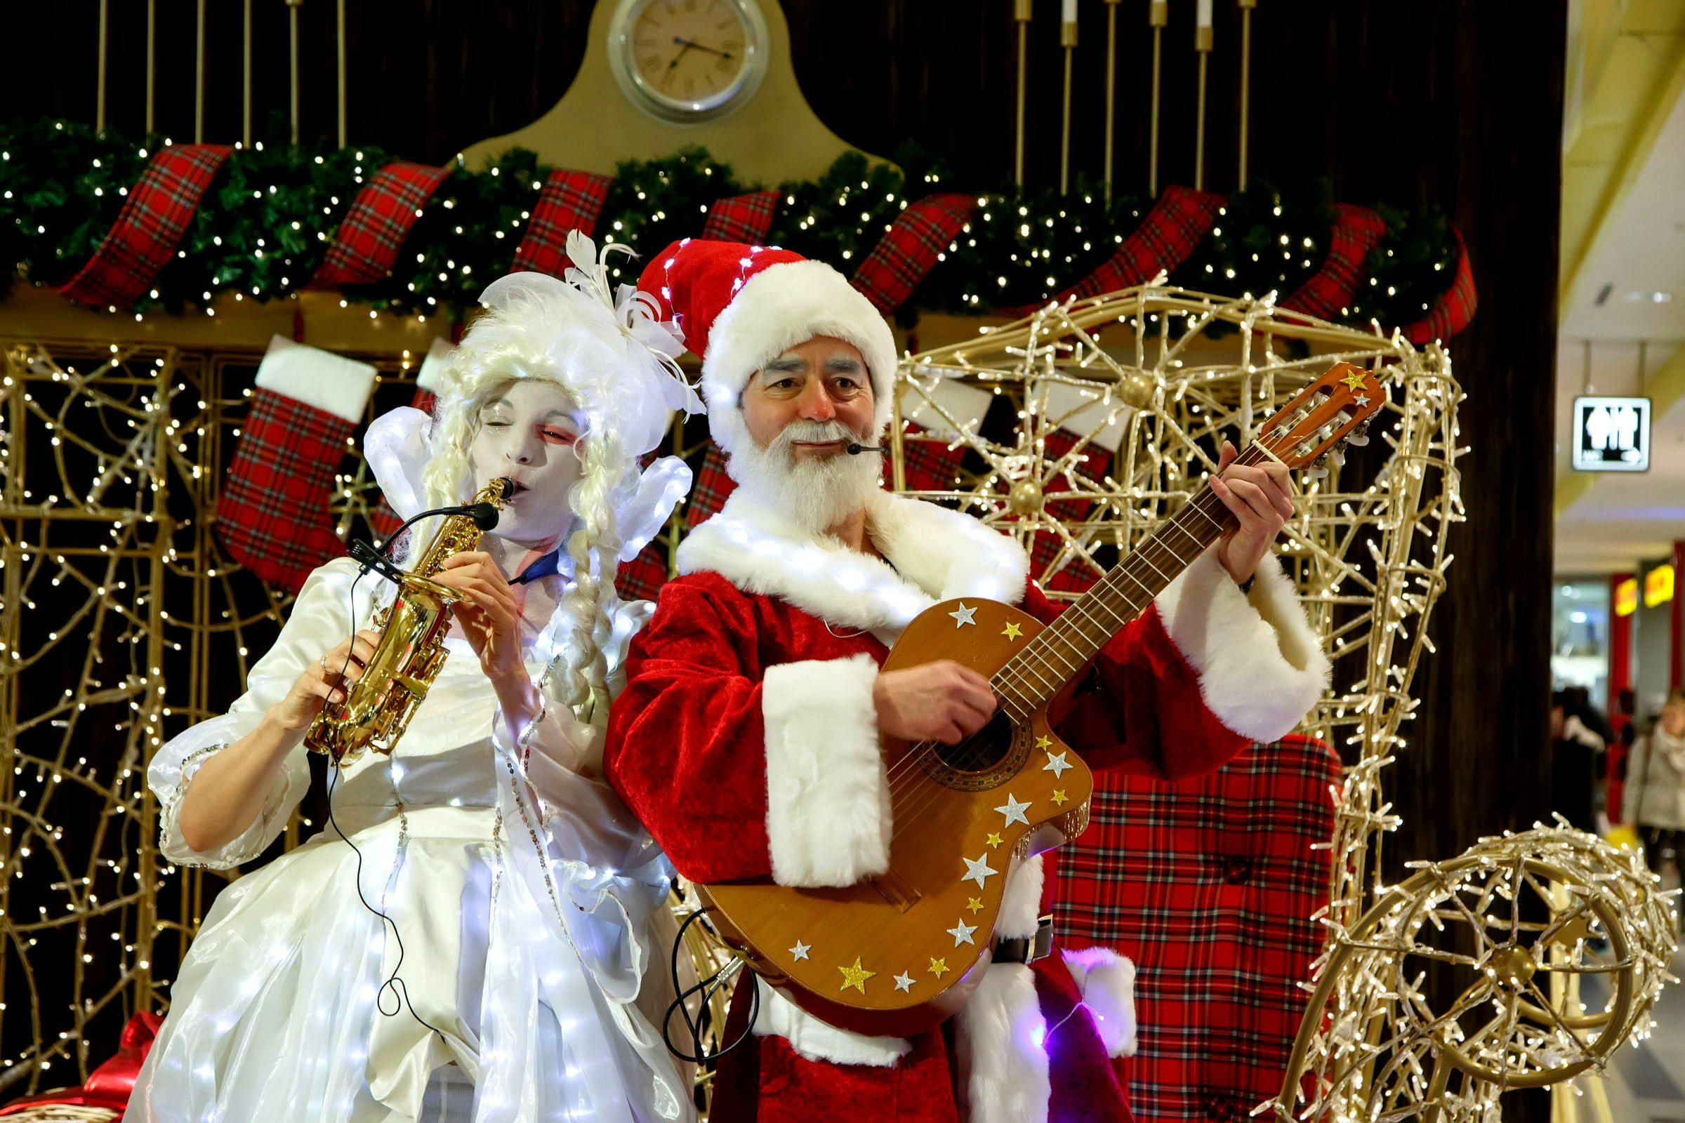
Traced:
<path fill-rule="evenodd" d="M 509 488 L 509 480 L 492 480 L 473 502 L 502 508 Z M 339 768 L 369 748 L 391 756 L 445 665 L 450 606 L 462 599 L 455 589 L 433 581 L 433 574 L 447 557 L 479 544 L 480 529 L 470 515 L 441 517 L 438 532 L 409 572 L 396 576 L 398 596 L 374 615 L 372 626 L 381 638 L 362 679 L 345 689 L 344 702 L 329 702 L 310 722 L 305 732 L 310 751 L 325 753 Z"/>

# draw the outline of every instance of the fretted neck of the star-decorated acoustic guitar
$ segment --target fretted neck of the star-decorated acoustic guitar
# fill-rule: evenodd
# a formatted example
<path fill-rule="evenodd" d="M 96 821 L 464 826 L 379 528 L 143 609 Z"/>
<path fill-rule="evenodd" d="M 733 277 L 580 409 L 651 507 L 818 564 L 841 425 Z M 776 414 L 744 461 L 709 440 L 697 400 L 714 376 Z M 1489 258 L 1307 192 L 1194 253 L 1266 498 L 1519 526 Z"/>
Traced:
<path fill-rule="evenodd" d="M 1265 460 L 1269 453 L 1254 444 L 1235 463 Z M 994 673 L 991 685 L 1008 716 L 1023 721 L 1046 705 L 1107 640 L 1144 613 L 1153 598 L 1222 537 L 1227 525 L 1228 508 L 1205 485 Z"/>

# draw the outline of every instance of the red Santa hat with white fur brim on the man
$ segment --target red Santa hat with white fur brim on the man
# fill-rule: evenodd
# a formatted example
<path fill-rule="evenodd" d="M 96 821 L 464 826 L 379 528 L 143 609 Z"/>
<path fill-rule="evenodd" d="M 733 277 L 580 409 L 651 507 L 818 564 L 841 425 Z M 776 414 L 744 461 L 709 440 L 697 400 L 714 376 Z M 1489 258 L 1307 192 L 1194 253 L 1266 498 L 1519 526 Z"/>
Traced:
<path fill-rule="evenodd" d="M 816 335 L 859 349 L 873 392 L 876 439 L 890 424 L 895 335 L 841 273 L 777 246 L 684 237 L 645 266 L 639 290 L 703 359 L 708 429 L 726 453 L 743 448 L 741 396 L 750 377 Z"/>

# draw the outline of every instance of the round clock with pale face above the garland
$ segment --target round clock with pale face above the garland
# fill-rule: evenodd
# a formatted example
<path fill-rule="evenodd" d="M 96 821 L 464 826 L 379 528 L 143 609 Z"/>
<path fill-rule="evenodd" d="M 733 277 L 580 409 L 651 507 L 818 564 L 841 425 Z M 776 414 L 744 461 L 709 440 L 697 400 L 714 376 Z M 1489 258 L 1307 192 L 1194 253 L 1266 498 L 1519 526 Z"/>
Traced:
<path fill-rule="evenodd" d="M 608 35 L 622 91 L 666 121 L 725 116 L 767 71 L 755 0 L 622 0 Z"/>

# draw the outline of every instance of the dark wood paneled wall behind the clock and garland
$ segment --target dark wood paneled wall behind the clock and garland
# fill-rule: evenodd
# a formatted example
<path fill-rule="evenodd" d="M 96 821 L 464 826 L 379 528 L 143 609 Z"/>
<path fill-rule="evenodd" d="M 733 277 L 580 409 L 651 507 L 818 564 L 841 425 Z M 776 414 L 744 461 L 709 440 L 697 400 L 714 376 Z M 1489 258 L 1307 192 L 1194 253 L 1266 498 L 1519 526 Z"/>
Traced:
<path fill-rule="evenodd" d="M 608 0 L 605 0 L 608 2 Z M 209 25 L 207 138 L 239 130 L 239 5 Z M 585 51 L 586 3 L 352 0 L 350 135 L 408 158 L 445 160 L 512 130 L 566 89 Z M 1235 185 L 1238 12 L 1220 0 L 1206 185 Z M 113 3 L 111 125 L 140 126 L 145 5 Z M 259 123 L 286 108 L 286 15 L 258 0 Z M 1011 173 L 1016 30 L 1009 0 L 787 0 L 795 69 L 844 140 L 888 153 L 917 140 L 959 177 Z M 1075 128 L 1078 172 L 1099 172 L 1104 5 L 1083 0 Z M 1191 182 L 1191 0 L 1164 37 L 1161 178 Z M 1469 522 L 1456 529 L 1449 593 L 1422 668 L 1420 717 L 1392 769 L 1405 827 L 1388 859 L 1444 857 L 1547 812 L 1550 441 L 1565 0 L 1515 7 L 1458 0 L 1264 0 L 1254 25 L 1252 172 L 1289 190 L 1439 205 L 1461 227 L 1481 308 L 1454 345 L 1468 389 L 1463 436 Z M 158 0 L 160 126 L 192 128 L 190 0 Z M 34 17 L 40 66 L 13 74 L 0 113 L 93 118 L 93 0 Z M 1051 0 L 1036 2 L 1028 167 L 1056 182 L 1060 51 Z M 307 131 L 334 126 L 330 0 L 307 0 Z M 7 22 L 19 17 L 8 13 Z M 1119 7 L 1117 173 L 1146 180 L 1146 3 Z M 163 52 L 160 52 L 163 54 Z M 270 136 L 275 133 L 261 130 Z"/>

